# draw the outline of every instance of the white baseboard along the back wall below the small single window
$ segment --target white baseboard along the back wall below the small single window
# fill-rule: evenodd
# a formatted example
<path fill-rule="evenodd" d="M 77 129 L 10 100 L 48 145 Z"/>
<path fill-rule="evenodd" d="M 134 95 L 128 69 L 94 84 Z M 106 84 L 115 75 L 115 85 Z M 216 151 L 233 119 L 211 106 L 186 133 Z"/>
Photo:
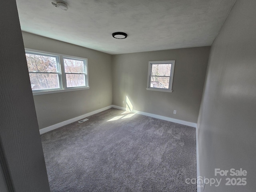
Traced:
<path fill-rule="evenodd" d="M 120 107 L 120 106 L 116 106 L 116 105 L 112 105 L 112 107 L 116 108 L 116 109 L 124 110 L 124 111 L 130 111 L 130 109 L 126 109 L 124 107 Z M 137 111 L 137 110 L 133 110 L 133 109 L 131 112 L 196 128 L 196 123 L 192 123 L 192 122 L 188 122 L 188 121 L 183 121 L 183 120 L 165 117 L 165 116 L 161 116 L 161 115 L 156 115 L 156 114 L 152 114 L 152 113 L 146 113 L 146 112 Z"/>

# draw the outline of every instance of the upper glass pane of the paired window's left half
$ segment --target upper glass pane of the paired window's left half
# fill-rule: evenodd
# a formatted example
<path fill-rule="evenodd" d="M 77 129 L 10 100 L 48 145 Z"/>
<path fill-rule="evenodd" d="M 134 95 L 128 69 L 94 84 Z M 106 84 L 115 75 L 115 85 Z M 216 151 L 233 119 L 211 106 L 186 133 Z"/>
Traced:
<path fill-rule="evenodd" d="M 57 57 L 26 53 L 28 71 L 57 72 Z"/>

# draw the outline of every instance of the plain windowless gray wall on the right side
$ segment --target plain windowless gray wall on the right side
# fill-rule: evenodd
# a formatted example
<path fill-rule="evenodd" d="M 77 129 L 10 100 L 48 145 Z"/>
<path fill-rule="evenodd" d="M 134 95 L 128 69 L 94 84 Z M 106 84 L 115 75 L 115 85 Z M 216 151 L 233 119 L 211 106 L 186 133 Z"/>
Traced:
<path fill-rule="evenodd" d="M 198 118 L 199 169 L 222 183 L 204 192 L 256 188 L 255 10 L 255 0 L 237 0 L 211 48 Z M 214 176 L 215 168 L 247 170 L 246 186 L 226 186 L 227 177 Z"/>

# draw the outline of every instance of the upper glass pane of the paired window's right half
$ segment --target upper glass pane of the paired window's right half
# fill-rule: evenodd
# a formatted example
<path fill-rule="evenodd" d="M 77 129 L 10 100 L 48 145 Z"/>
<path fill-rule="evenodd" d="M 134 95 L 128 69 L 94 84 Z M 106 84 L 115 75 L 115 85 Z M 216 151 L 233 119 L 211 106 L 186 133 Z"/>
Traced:
<path fill-rule="evenodd" d="M 84 73 L 84 61 L 64 58 L 65 73 Z"/>

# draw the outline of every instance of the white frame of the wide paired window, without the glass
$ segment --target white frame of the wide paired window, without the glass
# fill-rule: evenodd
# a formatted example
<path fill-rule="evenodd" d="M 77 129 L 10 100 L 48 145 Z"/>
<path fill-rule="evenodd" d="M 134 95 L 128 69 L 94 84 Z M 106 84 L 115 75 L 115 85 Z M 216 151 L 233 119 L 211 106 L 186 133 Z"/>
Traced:
<path fill-rule="evenodd" d="M 32 90 L 33 95 L 52 94 L 52 93 L 68 92 L 68 91 L 77 91 L 77 90 L 85 90 L 85 89 L 90 88 L 90 86 L 89 86 L 89 76 L 88 76 L 88 59 L 87 58 L 74 57 L 74 56 L 69 56 L 69 55 L 64 55 L 64 54 L 45 52 L 45 51 L 39 51 L 39 50 L 34 50 L 34 49 L 28 49 L 28 48 L 25 48 L 25 53 L 40 54 L 40 55 L 47 55 L 47 56 L 57 57 L 57 70 L 58 70 L 57 73 L 58 73 L 58 76 L 59 76 L 60 88 L 45 89 L 45 90 Z M 64 58 L 74 59 L 74 60 L 83 60 L 85 62 L 84 63 L 84 73 L 81 73 L 81 74 L 85 74 L 86 86 L 79 86 L 79 87 L 67 87 L 66 86 L 66 74 L 69 74 L 69 73 L 65 73 Z"/>

